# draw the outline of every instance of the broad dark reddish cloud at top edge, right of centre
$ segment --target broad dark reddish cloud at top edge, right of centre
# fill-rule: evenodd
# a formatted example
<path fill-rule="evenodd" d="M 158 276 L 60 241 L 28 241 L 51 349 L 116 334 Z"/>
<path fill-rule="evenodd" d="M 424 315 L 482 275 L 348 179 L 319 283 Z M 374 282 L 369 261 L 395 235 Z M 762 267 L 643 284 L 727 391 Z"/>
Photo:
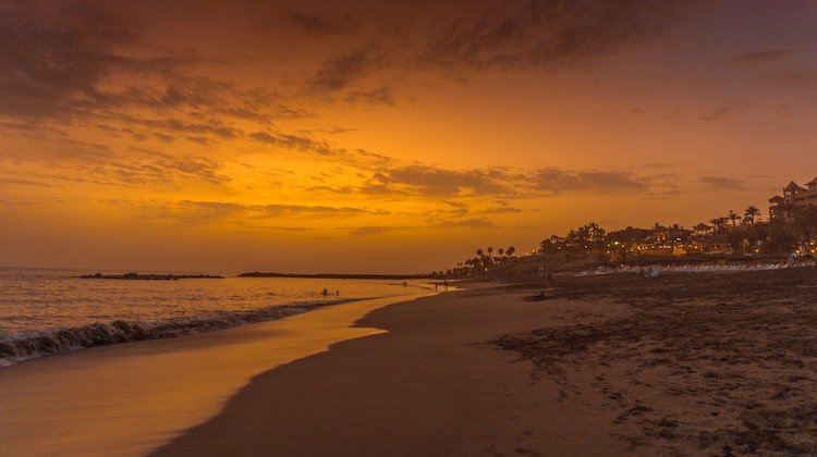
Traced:
<path fill-rule="evenodd" d="M 556 69 L 654 39 L 683 2 L 529 0 L 458 3 L 418 53 L 446 69 Z"/>

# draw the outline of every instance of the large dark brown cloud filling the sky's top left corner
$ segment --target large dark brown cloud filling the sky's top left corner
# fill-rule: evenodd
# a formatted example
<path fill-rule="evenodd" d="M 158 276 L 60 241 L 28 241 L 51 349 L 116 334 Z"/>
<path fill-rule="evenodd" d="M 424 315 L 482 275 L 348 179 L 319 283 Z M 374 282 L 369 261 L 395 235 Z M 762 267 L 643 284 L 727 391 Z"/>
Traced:
<path fill-rule="evenodd" d="M 5 2 L 0 16 L 0 113 L 15 118 L 81 115 L 111 102 L 100 85 L 113 74 L 169 74 L 186 61 L 127 57 L 133 24 L 77 2 Z"/>

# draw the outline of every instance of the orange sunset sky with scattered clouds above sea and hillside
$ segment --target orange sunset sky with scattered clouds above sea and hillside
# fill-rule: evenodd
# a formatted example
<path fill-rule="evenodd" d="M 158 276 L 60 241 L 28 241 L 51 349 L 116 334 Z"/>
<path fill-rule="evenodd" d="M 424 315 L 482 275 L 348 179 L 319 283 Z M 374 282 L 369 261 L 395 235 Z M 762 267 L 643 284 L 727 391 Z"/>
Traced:
<path fill-rule="evenodd" d="M 0 265 L 425 272 L 815 175 L 815 1 L 0 0 Z"/>

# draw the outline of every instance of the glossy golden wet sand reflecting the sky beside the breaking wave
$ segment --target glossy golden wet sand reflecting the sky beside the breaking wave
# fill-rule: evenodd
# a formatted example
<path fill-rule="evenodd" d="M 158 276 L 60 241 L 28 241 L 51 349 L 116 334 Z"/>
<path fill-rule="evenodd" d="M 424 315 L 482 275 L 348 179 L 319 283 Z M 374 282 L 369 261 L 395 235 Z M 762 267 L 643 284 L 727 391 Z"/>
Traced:
<path fill-rule="evenodd" d="M 0 369 L 0 455 L 144 455 L 216 415 L 254 375 L 340 341 L 381 333 L 351 325 L 412 298 L 349 302 Z"/>

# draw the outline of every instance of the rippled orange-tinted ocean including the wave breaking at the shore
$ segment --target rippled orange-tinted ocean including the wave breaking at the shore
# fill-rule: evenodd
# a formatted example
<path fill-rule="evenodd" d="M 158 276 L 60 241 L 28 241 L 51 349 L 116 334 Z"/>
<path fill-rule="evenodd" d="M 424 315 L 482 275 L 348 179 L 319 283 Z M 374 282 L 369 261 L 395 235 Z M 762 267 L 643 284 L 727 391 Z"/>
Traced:
<path fill-rule="evenodd" d="M 0 268 L 0 367 L 49 354 L 206 332 L 432 287 L 419 281 L 404 287 L 397 280 L 80 277 L 97 272 Z M 328 296 L 321 295 L 324 288 Z"/>

